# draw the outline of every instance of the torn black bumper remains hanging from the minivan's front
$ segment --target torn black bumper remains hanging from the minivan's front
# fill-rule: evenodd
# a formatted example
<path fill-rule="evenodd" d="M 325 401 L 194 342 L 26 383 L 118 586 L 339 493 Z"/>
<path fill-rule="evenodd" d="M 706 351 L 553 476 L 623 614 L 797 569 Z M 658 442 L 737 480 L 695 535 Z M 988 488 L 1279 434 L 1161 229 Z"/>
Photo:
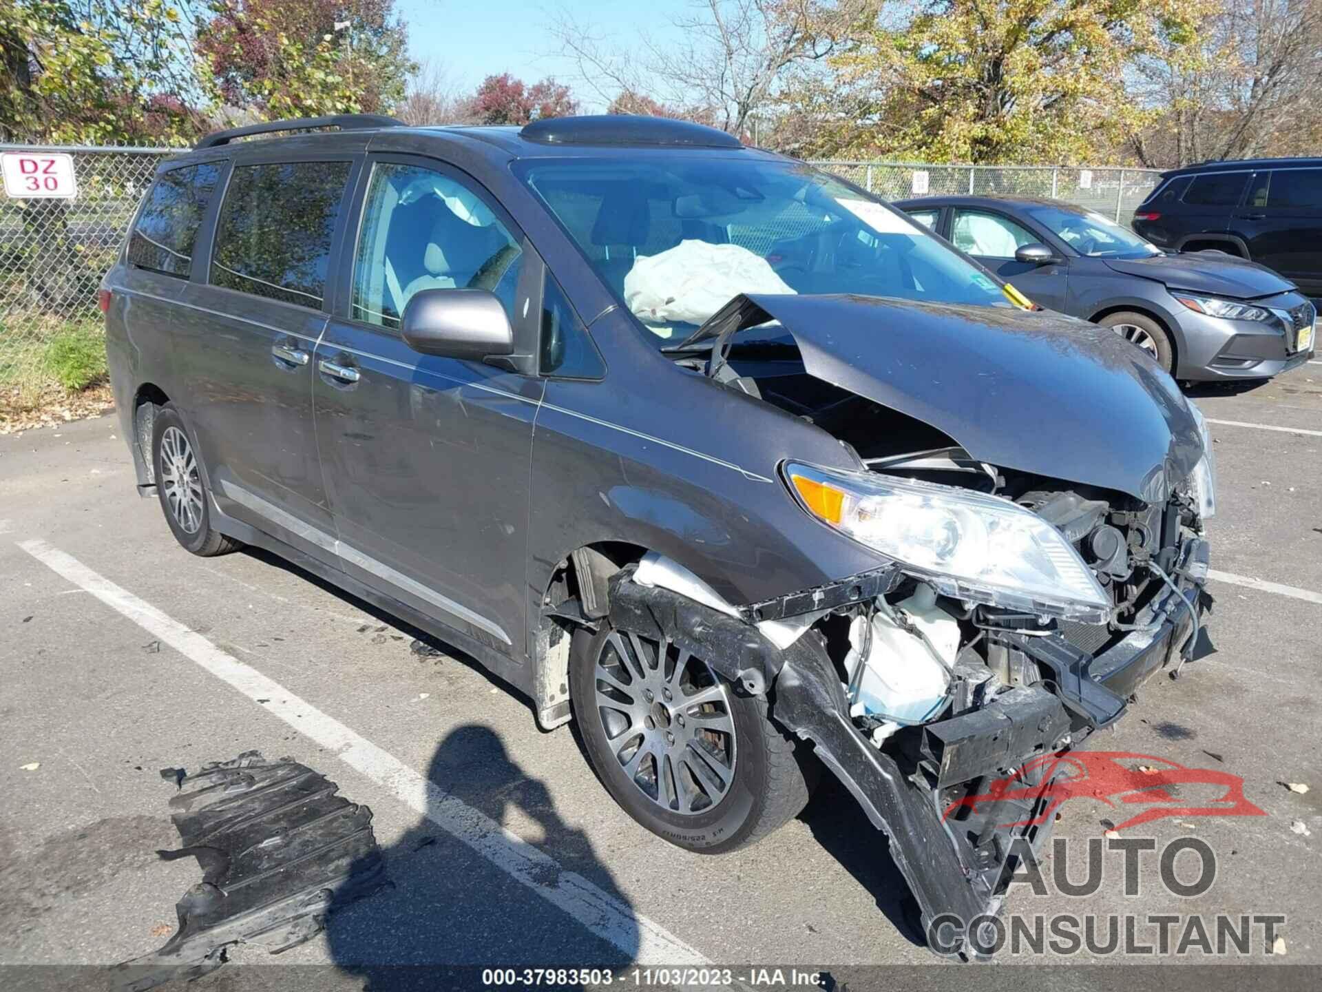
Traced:
<path fill-rule="evenodd" d="M 960 932 L 969 934 L 978 917 L 999 911 L 1025 845 L 1035 854 L 1050 835 L 1054 817 L 1043 812 L 1051 772 L 1040 782 L 1019 782 L 1034 787 L 1027 799 L 961 808 L 960 819 L 951 813 L 958 806 L 952 806 L 952 796 L 986 792 L 984 786 L 1015 775 L 1035 758 L 1077 747 L 1093 730 L 1118 720 L 1137 686 L 1154 672 L 1191 656 L 1196 618 L 1210 602 L 1203 591 L 1206 542 L 1185 541 L 1178 566 L 1173 571 L 1179 577 L 1178 593 L 1166 589 L 1154 597 L 1133 618 L 1133 630 L 1105 651 L 1092 653 L 1059 630 L 1005 635 L 1050 677 L 1011 688 L 958 716 L 903 727 L 886 749 L 851 718 L 846 688 L 821 636 L 810 631 L 777 647 L 763 630 L 767 623 L 821 615 L 883 595 L 903 579 L 898 566 L 735 611 L 624 575 L 611 590 L 611 622 L 669 638 L 707 659 L 743 690 L 765 693 L 772 717 L 812 742 L 816 755 L 890 839 L 924 932 L 933 921 L 953 915 L 964 925 Z M 941 952 L 968 954 L 969 948 Z"/>

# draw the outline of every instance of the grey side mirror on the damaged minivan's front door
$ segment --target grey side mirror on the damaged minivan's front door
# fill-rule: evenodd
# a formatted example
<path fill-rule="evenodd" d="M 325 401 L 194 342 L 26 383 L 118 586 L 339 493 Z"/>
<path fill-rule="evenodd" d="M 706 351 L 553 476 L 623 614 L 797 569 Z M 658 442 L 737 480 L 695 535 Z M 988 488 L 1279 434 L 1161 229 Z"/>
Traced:
<path fill-rule="evenodd" d="M 422 354 L 485 361 L 514 353 L 505 307 L 488 290 L 422 290 L 405 307 L 405 344 Z"/>

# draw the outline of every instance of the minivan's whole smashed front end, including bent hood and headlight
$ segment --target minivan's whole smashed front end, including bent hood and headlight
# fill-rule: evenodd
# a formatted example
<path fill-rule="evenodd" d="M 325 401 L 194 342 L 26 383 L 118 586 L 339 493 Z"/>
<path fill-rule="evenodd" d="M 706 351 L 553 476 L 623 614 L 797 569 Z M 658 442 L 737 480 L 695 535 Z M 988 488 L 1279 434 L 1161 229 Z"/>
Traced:
<path fill-rule="evenodd" d="M 738 296 L 670 351 L 838 443 L 776 471 L 878 565 L 736 606 L 649 554 L 611 623 L 764 694 L 888 836 L 924 932 L 968 940 L 1050 835 L 1055 757 L 1202 641 L 1203 418 L 1116 335 L 1014 310 Z"/>

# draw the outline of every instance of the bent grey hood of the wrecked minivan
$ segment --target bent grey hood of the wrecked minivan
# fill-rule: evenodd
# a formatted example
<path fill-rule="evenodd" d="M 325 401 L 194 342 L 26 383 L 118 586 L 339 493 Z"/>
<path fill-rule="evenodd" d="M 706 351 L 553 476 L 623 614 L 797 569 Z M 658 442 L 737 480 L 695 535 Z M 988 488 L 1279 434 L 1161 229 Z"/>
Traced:
<path fill-rule="evenodd" d="M 981 462 L 1163 503 L 1203 454 L 1175 381 L 1056 313 L 879 296 L 735 296 L 694 340 L 776 320 L 808 374 L 936 427 Z"/>

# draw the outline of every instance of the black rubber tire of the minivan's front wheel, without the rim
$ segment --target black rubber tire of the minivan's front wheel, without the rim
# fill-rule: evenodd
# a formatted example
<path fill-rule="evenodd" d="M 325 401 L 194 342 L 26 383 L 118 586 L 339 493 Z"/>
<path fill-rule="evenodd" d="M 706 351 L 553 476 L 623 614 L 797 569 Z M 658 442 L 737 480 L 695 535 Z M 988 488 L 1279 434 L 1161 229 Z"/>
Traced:
<path fill-rule="evenodd" d="M 699 812 L 672 812 L 635 784 L 616 758 L 596 702 L 596 661 L 615 632 L 603 620 L 595 635 L 586 630 L 575 632 L 570 648 L 570 698 L 579 735 L 592 768 L 615 802 L 658 837 L 701 854 L 748 847 L 797 816 L 808 803 L 810 782 L 817 778 L 817 759 L 806 745 L 796 743 L 768 720 L 765 700 L 736 693 L 728 682 L 723 682 L 724 701 L 715 705 L 728 706 L 736 750 L 732 776 L 720 800 Z M 616 745 L 625 733 L 632 733 L 632 727 L 616 735 Z"/>

